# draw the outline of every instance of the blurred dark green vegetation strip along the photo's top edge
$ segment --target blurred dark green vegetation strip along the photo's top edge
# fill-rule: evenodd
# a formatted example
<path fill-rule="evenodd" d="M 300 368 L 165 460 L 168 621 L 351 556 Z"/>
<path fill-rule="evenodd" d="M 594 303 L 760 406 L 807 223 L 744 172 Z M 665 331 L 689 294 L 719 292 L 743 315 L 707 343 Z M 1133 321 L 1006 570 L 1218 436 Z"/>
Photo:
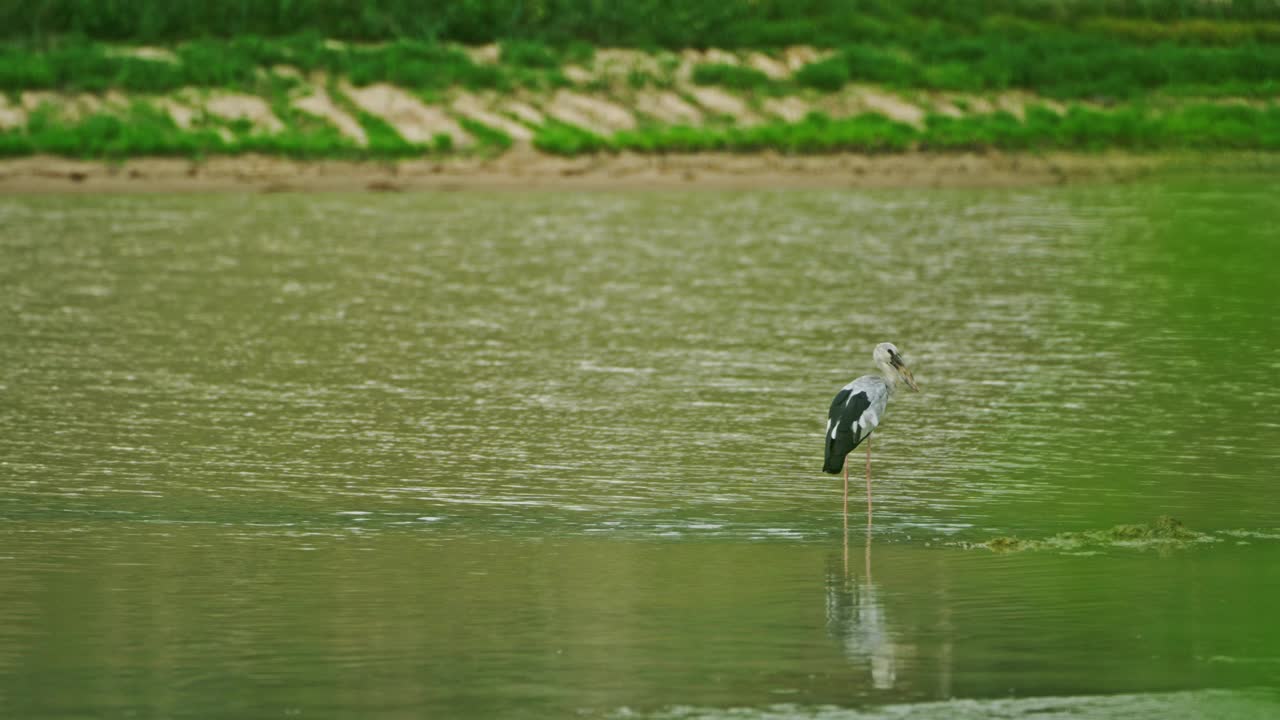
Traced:
<path fill-rule="evenodd" d="M 919 49 L 1061 29 L 1135 42 L 1276 41 L 1275 0 L 0 0 L 0 36 L 166 44 L 307 29 L 352 41 Z"/>

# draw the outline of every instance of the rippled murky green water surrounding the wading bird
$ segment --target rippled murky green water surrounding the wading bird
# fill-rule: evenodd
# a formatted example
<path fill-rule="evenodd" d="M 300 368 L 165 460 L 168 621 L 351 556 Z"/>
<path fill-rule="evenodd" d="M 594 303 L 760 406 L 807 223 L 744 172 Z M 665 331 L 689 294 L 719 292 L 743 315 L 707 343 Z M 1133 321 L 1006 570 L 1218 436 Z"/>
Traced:
<path fill-rule="evenodd" d="M 0 197 L 0 716 L 1280 716 L 1276 197 Z"/>

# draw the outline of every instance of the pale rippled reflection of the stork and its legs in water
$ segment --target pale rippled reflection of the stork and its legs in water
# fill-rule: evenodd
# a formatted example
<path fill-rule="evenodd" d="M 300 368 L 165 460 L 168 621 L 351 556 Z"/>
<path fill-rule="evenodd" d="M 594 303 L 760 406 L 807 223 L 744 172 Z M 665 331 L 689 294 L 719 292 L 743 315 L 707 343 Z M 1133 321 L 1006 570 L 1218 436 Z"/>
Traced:
<path fill-rule="evenodd" d="M 872 685 L 892 689 L 897 680 L 899 647 L 893 643 L 884 606 L 872 580 L 872 525 L 867 520 L 863 575 L 849 571 L 849 520 L 845 519 L 842 571 L 827 570 L 827 634 L 841 643 L 846 659 L 870 662 Z"/>

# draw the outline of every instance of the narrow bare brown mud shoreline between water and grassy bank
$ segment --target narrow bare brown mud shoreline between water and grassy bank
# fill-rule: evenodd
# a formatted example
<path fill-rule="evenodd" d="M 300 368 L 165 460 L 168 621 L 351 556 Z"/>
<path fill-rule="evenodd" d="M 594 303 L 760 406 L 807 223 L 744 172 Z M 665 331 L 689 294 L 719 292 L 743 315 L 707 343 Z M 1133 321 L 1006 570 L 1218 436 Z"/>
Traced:
<path fill-rule="evenodd" d="M 0 160 L 0 193 L 352 192 L 456 190 L 767 190 L 1019 187 L 1132 182 L 1189 172 L 1280 173 L 1280 154 L 908 152 L 893 155 L 671 154 L 399 161 L 291 160 L 268 155 Z"/>

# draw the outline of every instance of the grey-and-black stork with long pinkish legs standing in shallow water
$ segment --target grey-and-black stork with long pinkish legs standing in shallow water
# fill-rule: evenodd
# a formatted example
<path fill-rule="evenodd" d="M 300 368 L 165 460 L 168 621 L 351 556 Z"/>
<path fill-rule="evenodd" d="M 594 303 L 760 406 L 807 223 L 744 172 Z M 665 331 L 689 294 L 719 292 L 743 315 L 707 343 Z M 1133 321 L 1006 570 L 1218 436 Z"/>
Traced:
<path fill-rule="evenodd" d="M 872 352 L 881 375 L 863 375 L 840 388 L 831 401 L 827 415 L 827 455 L 822 469 L 833 475 L 845 470 L 845 521 L 849 521 L 849 454 L 864 439 L 867 441 L 867 521 L 872 516 L 872 430 L 884 416 L 888 398 L 897 389 L 897 383 L 905 382 L 919 392 L 911 370 L 906 368 L 902 356 L 892 342 L 882 342 Z"/>

